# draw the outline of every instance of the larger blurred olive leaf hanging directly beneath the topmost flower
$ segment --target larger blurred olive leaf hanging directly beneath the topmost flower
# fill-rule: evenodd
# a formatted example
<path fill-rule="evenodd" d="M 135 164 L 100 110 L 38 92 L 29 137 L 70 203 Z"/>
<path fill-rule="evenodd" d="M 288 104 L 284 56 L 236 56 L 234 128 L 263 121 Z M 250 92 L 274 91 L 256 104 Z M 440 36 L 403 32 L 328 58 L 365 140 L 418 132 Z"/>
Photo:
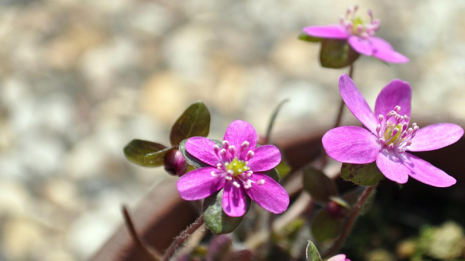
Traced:
<path fill-rule="evenodd" d="M 320 49 L 321 66 L 343 68 L 351 65 L 360 54 L 349 46 L 346 40 L 323 39 Z"/>

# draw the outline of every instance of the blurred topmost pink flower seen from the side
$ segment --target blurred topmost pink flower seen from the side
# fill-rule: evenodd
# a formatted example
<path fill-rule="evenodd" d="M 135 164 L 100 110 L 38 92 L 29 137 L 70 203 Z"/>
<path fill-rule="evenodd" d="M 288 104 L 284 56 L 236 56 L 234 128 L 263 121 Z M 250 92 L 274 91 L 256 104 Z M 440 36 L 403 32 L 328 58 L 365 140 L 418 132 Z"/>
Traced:
<path fill-rule="evenodd" d="M 353 11 L 347 9 L 345 16 L 341 16 L 339 25 L 307 26 L 303 31 L 316 38 L 347 40 L 356 52 L 374 56 L 389 63 L 408 62 L 409 59 L 394 51 L 387 41 L 374 37 L 374 33 L 379 30 L 380 21 L 373 20 L 372 10 L 368 9 L 370 23 L 365 23 L 359 16 L 356 16 L 357 10 L 358 6 L 355 6 Z"/>

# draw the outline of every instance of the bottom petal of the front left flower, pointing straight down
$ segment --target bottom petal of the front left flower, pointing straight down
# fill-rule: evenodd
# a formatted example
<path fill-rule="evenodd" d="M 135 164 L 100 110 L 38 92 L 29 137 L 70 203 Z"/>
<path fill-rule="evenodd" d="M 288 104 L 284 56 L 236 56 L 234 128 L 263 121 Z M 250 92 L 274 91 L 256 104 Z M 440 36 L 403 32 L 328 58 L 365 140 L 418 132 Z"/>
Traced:
<path fill-rule="evenodd" d="M 230 181 L 226 182 L 222 204 L 226 215 L 243 216 L 246 214 L 247 204 L 244 189 L 242 187 L 236 188 Z"/>

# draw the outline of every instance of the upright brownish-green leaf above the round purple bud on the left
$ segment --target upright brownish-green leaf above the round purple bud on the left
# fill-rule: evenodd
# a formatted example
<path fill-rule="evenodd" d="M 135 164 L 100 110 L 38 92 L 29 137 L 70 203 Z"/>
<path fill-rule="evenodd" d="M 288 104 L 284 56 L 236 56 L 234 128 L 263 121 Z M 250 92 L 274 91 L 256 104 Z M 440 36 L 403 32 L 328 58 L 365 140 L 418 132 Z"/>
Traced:
<path fill-rule="evenodd" d="M 191 104 L 171 127 L 170 142 L 173 146 L 190 137 L 207 137 L 210 131 L 210 112 L 203 102 Z"/>

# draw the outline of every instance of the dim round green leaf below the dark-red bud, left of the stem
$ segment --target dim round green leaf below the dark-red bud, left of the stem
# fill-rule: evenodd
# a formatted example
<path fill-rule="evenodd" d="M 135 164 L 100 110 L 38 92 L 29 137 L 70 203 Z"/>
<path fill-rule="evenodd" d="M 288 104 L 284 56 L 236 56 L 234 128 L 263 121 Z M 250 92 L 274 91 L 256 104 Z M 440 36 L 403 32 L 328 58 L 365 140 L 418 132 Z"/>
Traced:
<path fill-rule="evenodd" d="M 312 235 L 319 242 L 332 241 L 339 235 L 343 222 L 344 219 L 333 218 L 322 209 L 312 221 Z"/>

